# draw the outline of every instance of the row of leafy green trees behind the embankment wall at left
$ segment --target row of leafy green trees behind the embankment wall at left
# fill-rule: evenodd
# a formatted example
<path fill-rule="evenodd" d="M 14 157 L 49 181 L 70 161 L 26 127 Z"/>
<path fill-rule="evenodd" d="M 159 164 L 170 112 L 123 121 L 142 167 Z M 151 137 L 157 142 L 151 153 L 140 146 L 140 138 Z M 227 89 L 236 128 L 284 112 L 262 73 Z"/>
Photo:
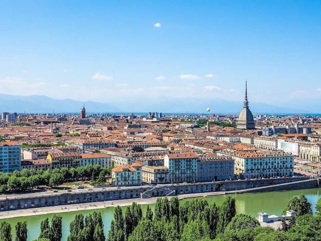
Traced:
<path fill-rule="evenodd" d="M 111 174 L 113 166 L 105 168 L 98 164 L 88 164 L 77 168 L 47 169 L 23 169 L 3 173 L 0 172 L 0 192 L 17 192 L 32 189 L 38 185 L 58 186 L 67 182 L 68 179 L 86 178 L 94 180 L 96 184 L 104 184 L 106 176 Z M 67 179 L 68 178 L 68 179 Z"/>

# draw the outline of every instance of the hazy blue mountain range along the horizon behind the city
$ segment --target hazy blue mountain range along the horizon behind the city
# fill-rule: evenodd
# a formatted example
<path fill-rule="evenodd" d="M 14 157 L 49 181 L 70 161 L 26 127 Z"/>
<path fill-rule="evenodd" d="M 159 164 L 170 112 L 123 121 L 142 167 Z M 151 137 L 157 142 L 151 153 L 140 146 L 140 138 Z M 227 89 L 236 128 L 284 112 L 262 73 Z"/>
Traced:
<path fill-rule="evenodd" d="M 81 102 L 73 99 L 54 99 L 44 95 L 17 96 L 0 94 L 0 112 L 17 113 L 78 113 L 85 106 L 87 113 L 210 113 L 239 114 L 243 102 L 229 102 L 219 98 L 128 98 L 110 103 Z M 265 103 L 250 103 L 253 114 L 303 114 L 317 113 L 306 109 L 279 107 Z M 207 108 L 211 110 L 206 112 Z M 315 109 L 315 108 L 314 108 Z"/>

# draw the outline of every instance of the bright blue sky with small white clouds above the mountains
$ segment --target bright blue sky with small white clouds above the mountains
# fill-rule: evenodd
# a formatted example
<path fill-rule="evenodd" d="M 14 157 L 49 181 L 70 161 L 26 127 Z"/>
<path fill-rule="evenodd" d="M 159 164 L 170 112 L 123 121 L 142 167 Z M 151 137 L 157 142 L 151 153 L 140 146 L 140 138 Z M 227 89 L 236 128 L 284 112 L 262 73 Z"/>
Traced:
<path fill-rule="evenodd" d="M 0 1 L 0 93 L 321 97 L 321 1 Z"/>

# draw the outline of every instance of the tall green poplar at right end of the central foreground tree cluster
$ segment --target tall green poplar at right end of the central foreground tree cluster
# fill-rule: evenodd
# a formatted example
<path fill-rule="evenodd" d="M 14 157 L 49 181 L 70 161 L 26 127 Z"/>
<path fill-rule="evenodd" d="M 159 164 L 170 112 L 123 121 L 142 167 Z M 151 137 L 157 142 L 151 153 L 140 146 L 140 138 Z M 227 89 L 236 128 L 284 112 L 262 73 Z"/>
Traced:
<path fill-rule="evenodd" d="M 235 214 L 235 198 L 227 196 L 222 206 L 219 207 L 216 233 L 223 233 Z"/>

